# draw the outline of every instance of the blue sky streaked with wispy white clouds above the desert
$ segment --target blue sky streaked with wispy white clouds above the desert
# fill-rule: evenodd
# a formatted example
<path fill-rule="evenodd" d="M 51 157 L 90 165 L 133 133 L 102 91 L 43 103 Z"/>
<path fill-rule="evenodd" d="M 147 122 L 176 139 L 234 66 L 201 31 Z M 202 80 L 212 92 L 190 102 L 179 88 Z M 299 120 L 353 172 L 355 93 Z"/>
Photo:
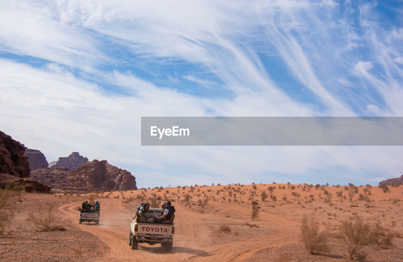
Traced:
<path fill-rule="evenodd" d="M 0 130 L 138 187 L 378 185 L 402 146 L 141 146 L 141 116 L 403 116 L 403 1 L 0 0 Z"/>

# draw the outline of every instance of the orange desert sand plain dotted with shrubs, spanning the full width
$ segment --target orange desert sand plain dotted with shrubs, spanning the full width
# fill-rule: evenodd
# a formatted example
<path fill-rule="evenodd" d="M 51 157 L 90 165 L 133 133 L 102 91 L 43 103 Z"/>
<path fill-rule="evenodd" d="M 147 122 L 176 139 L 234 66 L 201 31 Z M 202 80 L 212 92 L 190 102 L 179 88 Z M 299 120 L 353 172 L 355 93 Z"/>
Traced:
<path fill-rule="evenodd" d="M 269 186 L 276 187 L 272 191 L 276 201 L 270 197 L 261 200 L 263 190 L 270 195 Z M 278 189 L 279 186 L 285 189 Z M 359 193 L 364 195 L 365 186 L 357 186 L 358 193 L 352 201 L 343 186 L 313 187 L 310 191 L 303 191 L 303 185 L 294 186 L 295 189 L 291 189 L 287 184 L 259 184 L 253 189 L 253 185 L 231 185 L 232 196 L 228 185 L 195 186 L 193 191 L 190 187 L 170 187 L 81 196 L 21 193 L 21 202 L 13 205 L 14 220 L 0 235 L 0 260 L 349 261 L 337 238 L 337 229 L 341 221 L 361 216 L 368 223 L 380 222 L 386 232 L 398 236 L 388 249 L 372 244 L 364 246 L 368 255 L 365 261 L 403 261 L 403 202 L 400 201 L 403 186 L 389 187 L 388 193 L 372 186 L 368 189 L 370 202 L 358 200 Z M 332 195 L 330 202 L 326 200 L 325 191 Z M 337 191 L 343 191 L 347 199 L 338 197 Z M 162 200 L 175 200 L 172 205 L 177 210 L 176 229 L 171 252 L 165 252 L 160 245 L 140 243 L 139 250 L 131 250 L 128 245 L 130 223 L 140 201 L 138 197 L 148 200 L 152 194 Z M 189 201 L 184 201 L 186 194 L 191 197 Z M 204 207 L 199 206 L 199 199 L 204 200 L 206 196 L 211 199 Z M 85 222 L 79 225 L 78 208 L 91 198 L 100 202 L 100 225 Z M 253 221 L 252 201 L 260 206 L 259 216 Z M 53 205 L 56 212 L 54 225 L 61 225 L 66 231 L 37 232 L 27 221 L 29 212 L 38 212 L 38 208 L 45 210 L 48 205 Z M 305 250 L 299 240 L 304 214 L 312 215 L 320 227 L 330 229 L 328 252 L 311 255 Z M 231 231 L 218 232 L 222 225 L 229 226 Z"/>

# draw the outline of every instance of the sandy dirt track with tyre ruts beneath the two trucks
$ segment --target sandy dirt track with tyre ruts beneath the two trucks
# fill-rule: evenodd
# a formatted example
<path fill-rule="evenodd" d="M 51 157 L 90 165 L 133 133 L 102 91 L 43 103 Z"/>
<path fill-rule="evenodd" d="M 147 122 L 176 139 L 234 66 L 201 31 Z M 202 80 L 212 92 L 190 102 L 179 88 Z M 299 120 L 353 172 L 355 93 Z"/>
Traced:
<path fill-rule="evenodd" d="M 172 252 L 165 252 L 160 245 L 139 244 L 139 250 L 131 250 L 128 244 L 129 227 L 133 217 L 135 203 L 123 204 L 119 199 L 102 199 L 100 225 L 93 223 L 78 224 L 78 208 L 80 203 L 70 203 L 59 207 L 71 222 L 83 230 L 98 236 L 108 246 L 103 261 L 143 261 L 153 259 L 158 261 L 243 261 L 251 257 L 262 248 L 284 245 L 297 241 L 293 235 L 298 228 L 294 220 L 266 215 L 258 222 L 262 226 L 255 230 L 257 236 L 242 236 L 242 230 L 249 227 L 239 225 L 239 235 L 235 239 L 216 233 L 222 225 L 222 217 L 217 213 L 203 214 L 191 212 L 189 208 L 176 205 L 175 236 Z M 211 204 L 210 208 L 220 208 L 220 212 L 234 213 L 231 207 L 220 207 L 218 203 Z M 181 216 L 185 212 L 186 216 Z M 241 224 L 250 216 L 250 210 L 239 208 L 234 218 L 226 218 L 234 224 Z M 184 218 L 186 217 L 186 218 Z M 239 218 L 243 217 L 241 221 Z M 233 221 L 231 221 L 233 220 Z M 268 225 L 268 226 L 267 226 Z"/>

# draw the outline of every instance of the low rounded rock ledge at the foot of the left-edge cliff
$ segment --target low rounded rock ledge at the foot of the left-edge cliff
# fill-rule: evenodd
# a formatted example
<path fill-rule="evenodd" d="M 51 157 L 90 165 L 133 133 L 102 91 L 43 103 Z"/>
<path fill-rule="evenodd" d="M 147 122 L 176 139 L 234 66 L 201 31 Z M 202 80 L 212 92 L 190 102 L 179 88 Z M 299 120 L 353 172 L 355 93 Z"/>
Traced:
<path fill-rule="evenodd" d="M 29 178 L 15 177 L 9 174 L 0 174 L 0 187 L 5 188 L 8 184 L 19 187 L 29 193 L 50 193 L 50 187 Z"/>

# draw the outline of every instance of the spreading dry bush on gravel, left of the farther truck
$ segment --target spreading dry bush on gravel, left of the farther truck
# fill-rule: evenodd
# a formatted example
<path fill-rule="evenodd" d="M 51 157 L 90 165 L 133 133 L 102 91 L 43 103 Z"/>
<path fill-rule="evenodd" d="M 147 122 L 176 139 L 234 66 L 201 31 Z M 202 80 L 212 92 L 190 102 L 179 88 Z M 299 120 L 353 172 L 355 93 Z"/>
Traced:
<path fill-rule="evenodd" d="M 38 216 L 35 216 L 33 212 L 28 214 L 28 221 L 31 221 L 33 225 L 38 229 L 37 231 L 66 231 L 62 226 L 52 226 L 56 219 L 54 206 L 48 205 L 47 212 L 43 212 L 41 207 L 38 208 Z"/>

